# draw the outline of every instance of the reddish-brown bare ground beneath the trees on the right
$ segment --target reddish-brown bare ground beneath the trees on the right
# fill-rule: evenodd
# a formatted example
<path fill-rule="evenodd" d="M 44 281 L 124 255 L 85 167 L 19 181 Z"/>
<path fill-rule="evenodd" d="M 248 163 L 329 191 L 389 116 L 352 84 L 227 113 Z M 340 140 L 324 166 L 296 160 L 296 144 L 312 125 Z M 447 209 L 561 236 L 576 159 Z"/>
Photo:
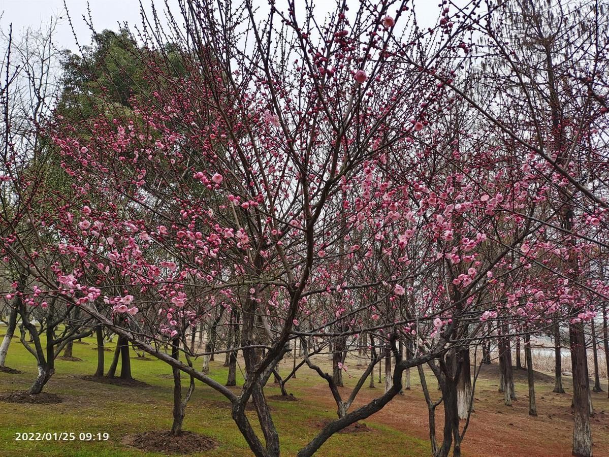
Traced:
<path fill-rule="evenodd" d="M 505 406 L 502 394 L 497 391 L 491 375 L 494 370 L 485 372 L 488 379 L 481 379 L 474 397 L 474 413 L 462 445 L 463 455 L 467 457 L 560 457 L 571 456 L 573 418 L 571 414 L 571 395 L 554 394 L 552 385 L 540 373 L 536 382 L 537 409 L 539 416 L 529 416 L 529 399 L 526 388 L 517 386 L 518 400 L 513 406 Z M 414 376 L 413 376 L 414 377 Z M 546 376 L 547 377 L 547 376 Z M 547 377 L 549 378 L 549 377 Z M 496 378 L 498 379 L 498 377 Z M 439 398 L 435 391 L 435 381 L 428 379 L 432 396 Z M 367 383 L 366 383 L 367 385 Z M 315 402 L 324 405 L 329 411 L 336 410 L 336 404 L 328 396 L 328 387 L 319 385 L 306 388 Z M 343 397 L 348 396 L 350 388 L 342 389 Z M 404 395 L 397 396 L 389 405 L 371 416 L 366 422 L 384 424 L 404 433 L 428 440 L 428 410 L 420 386 L 414 386 Z M 362 388 L 354 406 L 369 402 L 382 393 L 382 386 L 375 389 Z M 607 393 L 593 394 L 595 414 L 591 419 L 595 456 L 609 456 L 609 400 Z M 442 405 L 436 410 L 437 440 L 442 440 Z M 465 421 L 461 422 L 462 427 Z"/>

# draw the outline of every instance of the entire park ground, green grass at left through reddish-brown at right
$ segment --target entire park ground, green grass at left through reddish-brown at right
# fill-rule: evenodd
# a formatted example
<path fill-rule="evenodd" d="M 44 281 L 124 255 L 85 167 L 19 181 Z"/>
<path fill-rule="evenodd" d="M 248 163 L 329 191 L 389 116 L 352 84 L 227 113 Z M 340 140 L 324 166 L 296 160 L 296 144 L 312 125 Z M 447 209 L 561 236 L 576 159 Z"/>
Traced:
<path fill-rule="evenodd" d="M 3 333 L 3 332 L 2 332 Z M 156 441 L 163 440 L 161 432 L 169 430 L 172 417 L 171 369 L 154 360 L 132 360 L 133 375 L 145 385 L 114 385 L 92 382 L 86 378 L 94 372 L 96 352 L 92 338 L 75 344 L 74 356 L 82 361 L 57 361 L 57 374 L 49 382 L 46 392 L 60 397 L 60 403 L 5 403 L 0 402 L 0 449 L 2 456 L 135 456 L 162 455 L 146 452 L 135 446 L 146 440 L 146 434 L 158 431 Z M 110 356 L 110 355 L 109 355 Z M 135 356 L 135 354 L 134 354 Z M 211 363 L 211 375 L 224 381 L 227 368 L 221 361 Z M 325 358 L 317 360 L 329 369 Z M 356 361 L 348 361 L 345 375 L 346 393 L 356 383 L 356 376 L 363 371 Z M 13 340 L 7 365 L 21 371 L 20 374 L 0 372 L 0 394 L 23 391 L 35 377 L 36 367 L 32 356 L 18 341 Z M 286 359 L 280 371 L 287 374 L 292 360 Z M 383 370 L 384 371 L 384 370 Z M 384 386 L 362 389 L 357 404 L 378 396 Z M 83 378 L 85 377 L 85 378 Z M 569 456 L 571 455 L 571 380 L 565 378 L 566 394 L 552 393 L 553 379 L 538 373 L 538 417 L 529 417 L 526 372 L 516 371 L 516 394 L 513 406 L 504 406 L 498 392 L 496 365 L 485 366 L 477 380 L 474 396 L 475 411 L 463 442 L 463 455 L 470 456 Z M 239 373 L 238 382 L 242 382 Z M 435 381 L 428 373 L 432 394 Z M 185 383 L 186 385 L 187 383 Z M 366 383 L 366 386 L 368 383 Z M 606 386 L 607 383 L 604 383 Z M 272 407 L 273 419 L 278 426 L 284 455 L 295 455 L 328 420 L 335 416 L 334 405 L 328 388 L 317 375 L 303 368 L 297 379 L 290 380 L 287 390 L 295 397 L 284 401 L 275 385 L 269 385 L 266 394 Z M 609 400 L 607 394 L 593 394 L 595 414 L 592 419 L 594 452 L 596 456 L 609 455 Z M 255 420 L 255 413 L 252 420 Z M 396 397 L 384 410 L 348 430 L 329 439 L 321 448 L 320 456 L 424 456 L 429 455 L 428 419 L 420 383 L 416 371 L 412 371 L 412 389 Z M 438 408 L 438 435 L 442 434 L 442 410 Z M 196 434 L 200 440 L 197 455 L 248 456 L 247 444 L 241 438 L 230 418 L 230 406 L 224 397 L 210 388 L 197 385 L 186 411 L 184 428 Z M 16 441 L 20 432 L 75 432 L 74 441 Z M 80 441 L 79 433 L 105 433 L 108 441 Z M 142 438 L 144 437 L 144 439 Z M 165 440 L 167 441 L 167 440 Z M 179 443 L 176 452 L 180 451 Z M 151 445 L 152 446 L 152 445 Z M 190 452 L 190 449 L 188 449 Z"/>

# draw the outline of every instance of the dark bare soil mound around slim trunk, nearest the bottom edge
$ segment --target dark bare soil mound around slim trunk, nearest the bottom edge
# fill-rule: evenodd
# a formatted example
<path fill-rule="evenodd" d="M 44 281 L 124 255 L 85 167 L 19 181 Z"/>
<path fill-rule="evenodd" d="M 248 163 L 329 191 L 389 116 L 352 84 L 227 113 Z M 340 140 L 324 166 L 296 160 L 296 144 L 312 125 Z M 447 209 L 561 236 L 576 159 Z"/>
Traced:
<path fill-rule="evenodd" d="M 182 431 L 172 436 L 169 431 L 145 431 L 125 436 L 122 443 L 147 452 L 169 454 L 192 454 L 217 447 L 218 443 L 207 436 L 192 431 Z"/>

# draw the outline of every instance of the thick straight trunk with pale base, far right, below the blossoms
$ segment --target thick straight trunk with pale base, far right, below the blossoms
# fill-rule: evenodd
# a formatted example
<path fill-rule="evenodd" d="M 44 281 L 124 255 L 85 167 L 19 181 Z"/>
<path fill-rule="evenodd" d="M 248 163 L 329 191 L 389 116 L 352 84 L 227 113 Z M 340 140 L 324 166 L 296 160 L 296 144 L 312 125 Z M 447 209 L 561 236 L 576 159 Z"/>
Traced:
<path fill-rule="evenodd" d="M 589 380 L 586 370 L 586 345 L 583 324 L 569 324 L 571 343 L 571 365 L 573 372 L 573 450 L 574 456 L 592 456 L 592 435 L 590 431 Z"/>

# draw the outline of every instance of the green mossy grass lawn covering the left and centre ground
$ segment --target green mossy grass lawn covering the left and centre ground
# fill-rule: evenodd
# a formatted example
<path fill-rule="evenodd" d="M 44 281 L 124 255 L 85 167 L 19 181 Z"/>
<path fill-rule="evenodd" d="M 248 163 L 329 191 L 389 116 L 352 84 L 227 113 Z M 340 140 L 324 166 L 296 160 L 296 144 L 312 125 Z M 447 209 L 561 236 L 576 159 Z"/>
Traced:
<path fill-rule="evenodd" d="M 4 330 L 4 327 L 0 327 Z M 4 332 L 1 332 L 4 333 Z M 126 434 L 148 430 L 169 430 L 172 422 L 171 369 L 157 360 L 132 360 L 132 374 L 150 385 L 148 388 L 133 388 L 88 382 L 78 377 L 93 374 L 96 369 L 97 352 L 93 350 L 94 338 L 85 343 L 74 344 L 74 356 L 81 362 L 55 361 L 55 375 L 44 391 L 63 397 L 63 403 L 32 405 L 0 402 L 0 455 L 2 456 L 136 456 L 155 455 L 139 452 L 121 443 Z M 112 352 L 106 352 L 107 368 Z M 132 354 L 135 356 L 135 354 Z M 227 368 L 220 361 L 211 363 L 211 377 L 224 383 Z M 201 361 L 197 362 L 200 365 Z M 0 373 L 0 391 L 21 391 L 35 379 L 36 364 L 24 349 L 18 337 L 13 338 L 7 357 L 7 366 L 23 371 L 22 374 Z M 286 368 L 283 371 L 287 371 Z M 238 374 L 238 384 L 242 383 Z M 354 379 L 346 379 L 353 385 Z M 321 380 L 306 369 L 298 372 L 298 379 L 291 380 L 288 390 L 298 397 L 298 402 L 270 400 L 273 420 L 278 428 L 282 455 L 295 455 L 319 430 L 316 423 L 325 418 L 336 417 L 333 406 L 320 404 L 319 398 L 311 394 L 311 388 L 320 386 Z M 188 382 L 183 381 L 183 385 Z M 326 389 L 327 390 L 327 389 Z M 272 384 L 267 395 L 279 394 Z M 319 394 L 317 394 L 319 395 Z M 329 396 L 329 392 L 326 392 Z M 257 424 L 255 413 L 250 421 Z M 403 431 L 371 420 L 365 424 L 373 428 L 368 433 L 336 434 L 330 438 L 317 455 L 328 457 L 368 455 L 428 455 L 426 441 L 408 436 Z M 204 434 L 220 443 L 219 447 L 205 456 L 249 456 L 252 455 L 230 417 L 228 402 L 224 396 L 197 382 L 197 388 L 188 404 L 184 429 Z M 80 432 L 110 434 L 107 442 L 75 441 L 15 441 L 16 432 Z M 261 436 L 261 435 L 260 435 Z M 160 454 L 159 454 L 160 455 Z"/>

